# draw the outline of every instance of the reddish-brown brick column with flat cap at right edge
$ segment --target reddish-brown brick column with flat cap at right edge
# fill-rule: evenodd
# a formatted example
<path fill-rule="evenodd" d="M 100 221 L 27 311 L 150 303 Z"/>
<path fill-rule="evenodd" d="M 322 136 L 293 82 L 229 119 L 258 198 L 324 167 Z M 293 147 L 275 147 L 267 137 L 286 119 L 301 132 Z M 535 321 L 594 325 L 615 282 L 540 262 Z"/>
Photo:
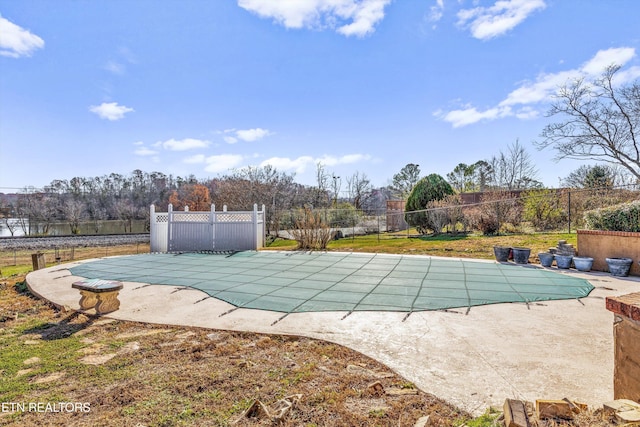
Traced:
<path fill-rule="evenodd" d="M 613 398 L 640 402 L 640 292 L 607 297 L 613 312 Z"/>

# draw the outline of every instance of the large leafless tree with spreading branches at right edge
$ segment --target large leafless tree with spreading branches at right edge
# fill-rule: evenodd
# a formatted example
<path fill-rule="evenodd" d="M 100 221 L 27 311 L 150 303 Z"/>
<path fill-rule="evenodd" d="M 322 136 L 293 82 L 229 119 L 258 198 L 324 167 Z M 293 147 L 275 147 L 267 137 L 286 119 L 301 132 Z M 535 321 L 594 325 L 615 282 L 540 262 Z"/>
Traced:
<path fill-rule="evenodd" d="M 640 84 L 618 84 L 617 65 L 599 79 L 584 78 L 562 87 L 548 116 L 560 115 L 542 131 L 540 148 L 553 147 L 556 159 L 590 159 L 622 165 L 640 180 Z"/>

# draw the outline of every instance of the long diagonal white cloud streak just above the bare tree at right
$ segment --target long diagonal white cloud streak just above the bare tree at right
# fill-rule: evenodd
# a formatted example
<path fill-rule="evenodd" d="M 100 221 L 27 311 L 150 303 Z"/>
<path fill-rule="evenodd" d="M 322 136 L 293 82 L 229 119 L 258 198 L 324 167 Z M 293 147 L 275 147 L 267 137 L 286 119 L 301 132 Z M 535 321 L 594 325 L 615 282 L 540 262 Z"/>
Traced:
<path fill-rule="evenodd" d="M 465 105 L 461 109 L 449 112 L 437 111 L 434 116 L 456 127 L 467 126 L 479 121 L 496 120 L 504 117 L 531 119 L 540 115 L 536 106 L 551 101 L 556 91 L 578 78 L 593 79 L 599 77 L 606 67 L 616 64 L 624 66 L 635 57 L 634 48 L 612 48 L 598 51 L 593 58 L 579 68 L 543 73 L 535 81 L 526 81 L 510 92 L 496 106 L 479 111 L 476 107 Z M 632 81 L 640 77 L 640 67 L 629 67 L 616 74 L 617 83 Z"/>

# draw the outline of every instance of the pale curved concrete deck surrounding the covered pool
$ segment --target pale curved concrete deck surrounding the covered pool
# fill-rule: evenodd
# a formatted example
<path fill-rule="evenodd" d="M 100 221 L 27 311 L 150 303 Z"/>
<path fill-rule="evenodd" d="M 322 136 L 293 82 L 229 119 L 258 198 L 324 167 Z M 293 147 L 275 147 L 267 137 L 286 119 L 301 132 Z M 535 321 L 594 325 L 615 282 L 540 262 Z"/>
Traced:
<path fill-rule="evenodd" d="M 30 273 L 31 291 L 79 309 L 64 264 Z M 556 270 L 556 269 L 554 269 Z M 556 270 L 557 271 L 557 270 Z M 237 309 L 195 289 L 123 282 L 120 309 L 106 317 L 136 322 L 307 336 L 370 356 L 421 390 L 481 413 L 505 398 L 575 398 L 599 407 L 613 399 L 613 315 L 604 298 L 640 291 L 640 277 L 563 272 L 596 289 L 581 300 L 495 304 L 447 312 L 282 313 Z M 277 320 L 279 322 L 275 323 Z"/>

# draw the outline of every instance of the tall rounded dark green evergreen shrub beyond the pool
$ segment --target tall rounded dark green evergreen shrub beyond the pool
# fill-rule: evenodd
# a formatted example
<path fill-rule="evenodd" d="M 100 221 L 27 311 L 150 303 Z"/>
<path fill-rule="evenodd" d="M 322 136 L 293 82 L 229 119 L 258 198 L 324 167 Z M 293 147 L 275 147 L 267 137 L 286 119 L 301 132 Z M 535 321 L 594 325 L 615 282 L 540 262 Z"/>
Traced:
<path fill-rule="evenodd" d="M 447 195 L 454 194 L 451 185 L 440 175 L 431 174 L 422 178 L 413 187 L 405 206 L 405 219 L 409 225 L 416 227 L 419 233 L 425 234 L 432 229 L 425 209 L 429 202 L 442 200 Z M 414 212 L 417 211 L 417 212 Z M 433 230 L 438 231 L 438 230 Z"/>

